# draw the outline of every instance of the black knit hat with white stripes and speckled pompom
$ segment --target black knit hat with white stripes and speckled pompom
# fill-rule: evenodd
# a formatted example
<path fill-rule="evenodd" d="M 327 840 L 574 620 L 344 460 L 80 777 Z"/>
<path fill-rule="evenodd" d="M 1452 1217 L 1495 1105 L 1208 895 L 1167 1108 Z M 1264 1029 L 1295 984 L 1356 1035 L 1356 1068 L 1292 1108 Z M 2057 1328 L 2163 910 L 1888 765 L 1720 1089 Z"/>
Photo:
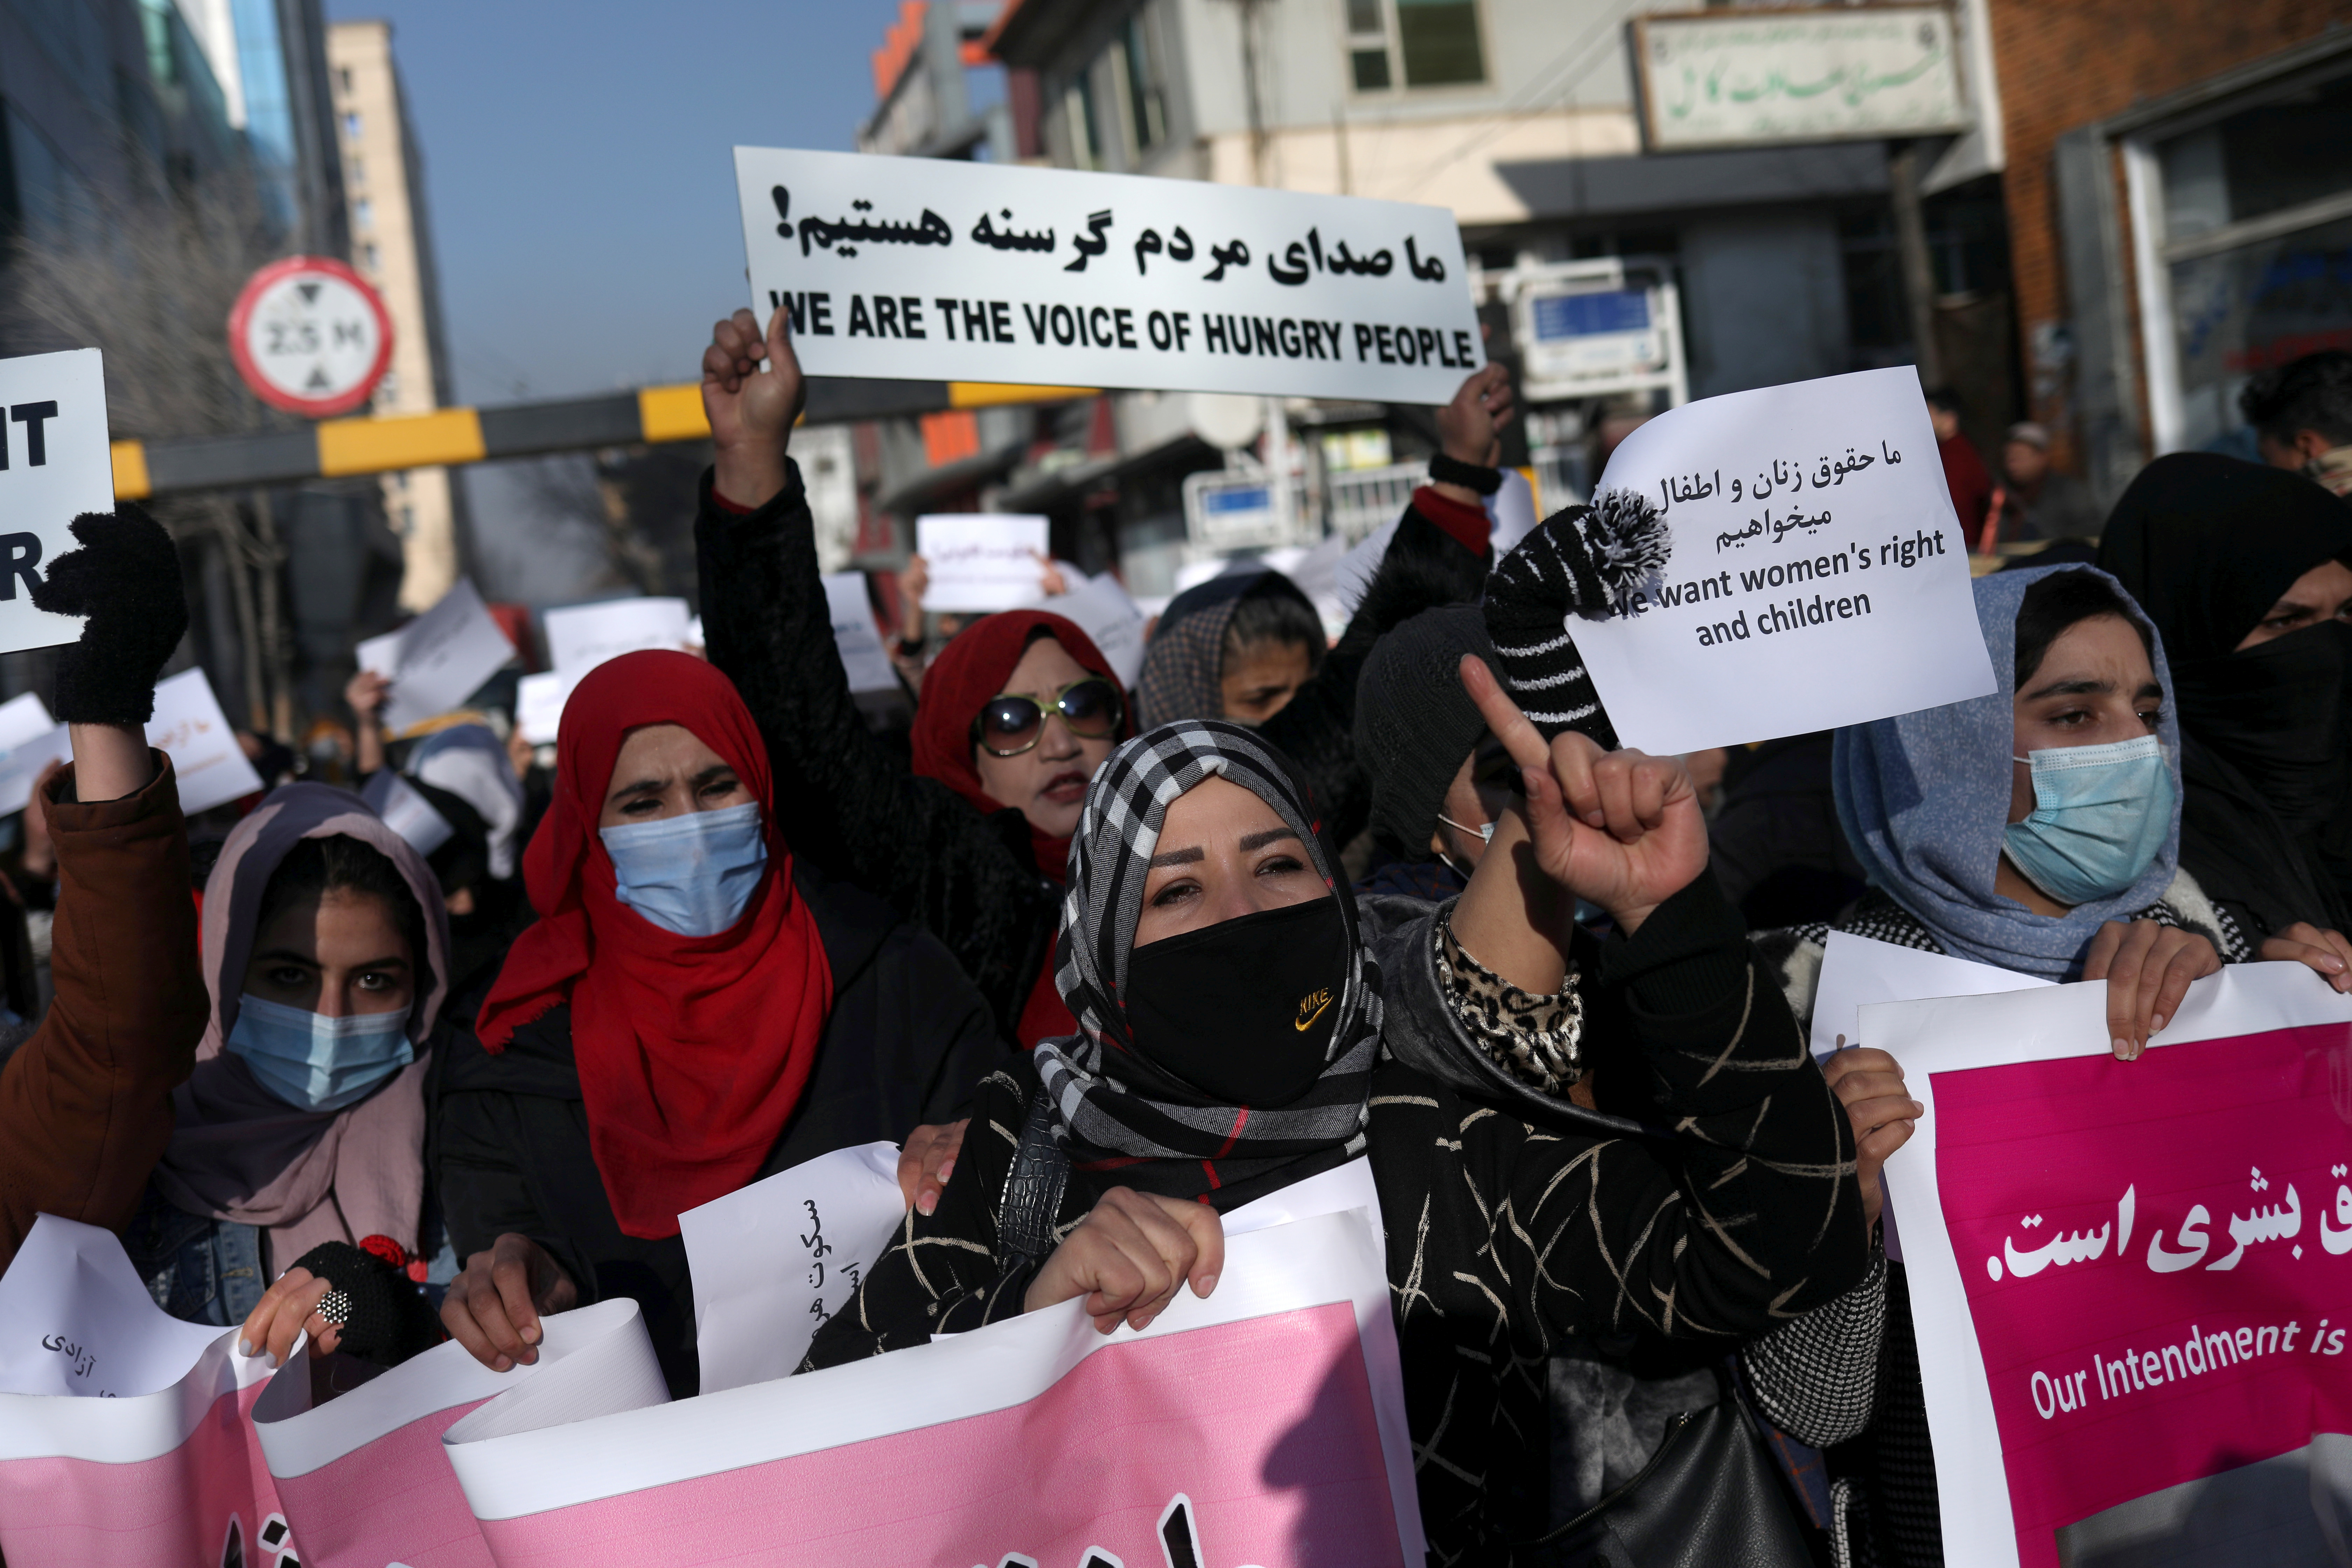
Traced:
<path fill-rule="evenodd" d="M 1658 508 L 1613 489 L 1595 505 L 1545 517 L 1486 578 L 1496 675 L 1545 741 L 1573 729 L 1616 750 L 1616 724 L 1569 628 L 1576 616 L 1623 614 L 1635 588 L 1665 567 L 1670 552 Z"/>

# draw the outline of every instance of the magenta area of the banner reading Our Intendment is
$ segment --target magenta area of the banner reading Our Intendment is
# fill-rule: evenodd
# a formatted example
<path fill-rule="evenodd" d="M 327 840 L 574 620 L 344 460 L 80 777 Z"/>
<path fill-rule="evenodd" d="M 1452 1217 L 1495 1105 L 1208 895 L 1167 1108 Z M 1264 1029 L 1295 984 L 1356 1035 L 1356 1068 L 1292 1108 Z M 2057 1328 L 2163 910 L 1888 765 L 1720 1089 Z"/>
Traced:
<path fill-rule="evenodd" d="M 2352 1025 L 1936 1072 L 1933 1117 L 2020 1563 L 2352 1432 Z"/>

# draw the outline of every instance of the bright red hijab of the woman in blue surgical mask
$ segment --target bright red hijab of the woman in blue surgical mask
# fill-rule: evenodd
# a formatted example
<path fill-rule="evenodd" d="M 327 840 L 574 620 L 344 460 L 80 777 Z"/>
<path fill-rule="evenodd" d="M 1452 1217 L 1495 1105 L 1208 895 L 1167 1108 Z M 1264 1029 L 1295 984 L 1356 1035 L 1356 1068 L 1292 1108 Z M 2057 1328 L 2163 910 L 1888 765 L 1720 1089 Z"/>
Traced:
<path fill-rule="evenodd" d="M 689 729 L 760 802 L 767 879 L 717 936 L 675 936 L 614 898 L 597 816 L 621 741 L 647 724 Z M 482 1048 L 569 1001 L 612 1213 L 630 1237 L 675 1237 L 680 1211 L 746 1185 L 776 1147 L 816 1065 L 833 969 L 793 889 L 767 748 L 724 675 L 666 651 L 602 663 L 564 703 L 555 757 L 555 802 L 522 856 L 539 924 L 482 1004 Z"/>

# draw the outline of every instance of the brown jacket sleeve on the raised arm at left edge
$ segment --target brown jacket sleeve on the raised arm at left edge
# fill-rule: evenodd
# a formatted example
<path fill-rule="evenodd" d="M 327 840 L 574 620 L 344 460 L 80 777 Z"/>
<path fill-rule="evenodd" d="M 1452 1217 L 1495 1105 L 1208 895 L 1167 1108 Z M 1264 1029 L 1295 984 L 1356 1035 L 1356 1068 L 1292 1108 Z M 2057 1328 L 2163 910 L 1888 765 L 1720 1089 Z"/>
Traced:
<path fill-rule="evenodd" d="M 73 769 L 49 785 L 56 1001 L 0 1067 L 0 1267 L 40 1213 L 129 1222 L 205 1037 L 188 825 L 155 762 L 125 799 L 75 802 Z"/>

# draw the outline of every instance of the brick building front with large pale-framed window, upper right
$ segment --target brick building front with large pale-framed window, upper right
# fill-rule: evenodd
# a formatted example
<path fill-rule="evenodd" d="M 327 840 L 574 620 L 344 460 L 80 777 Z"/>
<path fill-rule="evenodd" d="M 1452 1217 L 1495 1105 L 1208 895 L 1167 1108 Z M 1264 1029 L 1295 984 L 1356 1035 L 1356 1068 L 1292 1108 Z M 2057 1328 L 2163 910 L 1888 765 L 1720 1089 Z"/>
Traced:
<path fill-rule="evenodd" d="M 2352 348 L 2352 5 L 1994 0 L 2034 416 L 2103 498 Z M 2084 68 L 2096 61 L 2096 68 Z"/>

